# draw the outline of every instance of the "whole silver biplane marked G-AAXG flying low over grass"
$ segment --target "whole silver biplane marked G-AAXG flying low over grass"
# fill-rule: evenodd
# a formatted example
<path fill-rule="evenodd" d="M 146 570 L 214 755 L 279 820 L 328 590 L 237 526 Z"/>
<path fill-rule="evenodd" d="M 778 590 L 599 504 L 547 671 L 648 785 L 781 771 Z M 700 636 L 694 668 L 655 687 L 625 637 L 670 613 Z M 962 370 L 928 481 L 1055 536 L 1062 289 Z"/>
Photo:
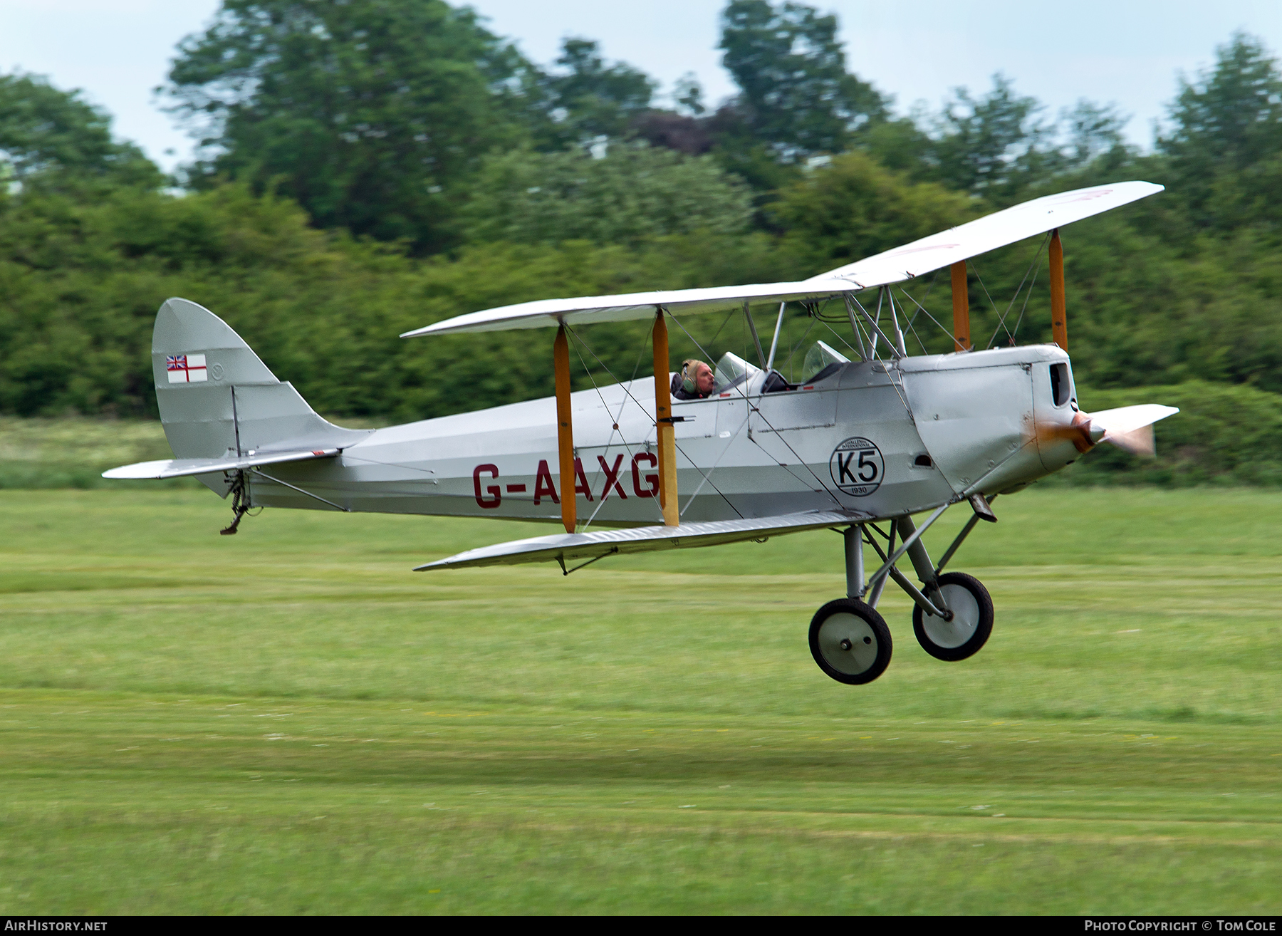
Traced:
<path fill-rule="evenodd" d="M 433 572 L 547 562 L 569 574 L 612 555 L 835 530 L 846 589 L 810 622 L 819 668 L 850 685 L 886 669 L 892 642 L 877 605 L 891 581 L 913 600 L 922 648 L 962 660 L 987 641 L 994 606 L 977 578 L 945 567 L 978 521 L 996 521 L 994 499 L 1101 442 L 1151 454 L 1153 423 L 1178 412 L 1087 413 L 1067 351 L 1059 230 L 1161 188 L 1119 182 L 1036 199 L 796 282 L 546 299 L 436 322 L 403 337 L 553 330 L 555 396 L 379 430 L 323 419 L 221 318 L 169 299 L 151 362 L 176 458 L 104 477 L 195 476 L 231 497 L 224 533 L 251 506 L 564 527 L 418 567 Z M 1054 344 L 976 349 L 967 262 L 1035 236 L 1046 242 Z M 953 350 L 910 355 L 903 283 L 944 268 Z M 763 305 L 774 319 L 768 345 L 754 317 Z M 832 333 L 809 349 L 799 381 L 776 367 L 790 308 Z M 755 359 L 727 351 L 710 392 L 674 395 L 669 324 L 690 335 L 682 322 L 713 312 L 744 317 Z M 591 354 L 587 326 L 633 319 L 651 323 L 653 378 L 570 392 L 572 342 Z M 922 535 L 963 504 L 972 517 L 936 562 Z M 904 556 L 915 582 L 899 568 Z"/>

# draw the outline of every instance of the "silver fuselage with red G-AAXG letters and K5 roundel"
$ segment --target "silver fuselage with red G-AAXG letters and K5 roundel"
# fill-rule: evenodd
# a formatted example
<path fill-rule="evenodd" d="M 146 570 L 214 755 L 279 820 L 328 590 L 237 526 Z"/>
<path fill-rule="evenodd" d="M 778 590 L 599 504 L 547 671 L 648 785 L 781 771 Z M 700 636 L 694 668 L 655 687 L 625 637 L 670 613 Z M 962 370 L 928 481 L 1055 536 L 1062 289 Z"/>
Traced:
<path fill-rule="evenodd" d="M 885 518 L 1010 491 L 1078 456 L 1076 405 L 1055 345 L 853 362 L 797 390 L 673 401 L 681 518 Z M 264 471 L 349 510 L 559 522 L 577 487 L 581 523 L 662 523 L 653 378 L 578 391 L 572 406 L 574 483 L 558 471 L 553 397 L 377 430 L 336 458 Z M 333 509 L 250 482 L 255 505 Z"/>

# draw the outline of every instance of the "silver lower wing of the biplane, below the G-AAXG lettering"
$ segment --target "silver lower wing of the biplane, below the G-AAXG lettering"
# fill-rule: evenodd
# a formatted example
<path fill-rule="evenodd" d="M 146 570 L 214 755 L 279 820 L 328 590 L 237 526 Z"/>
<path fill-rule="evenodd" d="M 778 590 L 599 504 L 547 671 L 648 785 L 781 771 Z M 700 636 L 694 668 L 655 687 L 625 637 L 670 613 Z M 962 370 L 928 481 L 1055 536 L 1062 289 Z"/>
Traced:
<path fill-rule="evenodd" d="M 633 527 L 631 530 L 597 530 L 591 533 L 535 536 L 529 540 L 513 540 L 495 546 L 469 549 L 467 553 L 419 565 L 414 571 L 515 565 L 554 559 L 564 564 L 576 559 L 599 559 L 615 553 L 719 546 L 724 542 L 800 533 L 804 530 L 822 530 L 823 527 L 845 526 L 869 519 L 872 519 L 872 514 L 858 510 L 809 510 L 779 517 L 683 523 L 679 527 Z"/>

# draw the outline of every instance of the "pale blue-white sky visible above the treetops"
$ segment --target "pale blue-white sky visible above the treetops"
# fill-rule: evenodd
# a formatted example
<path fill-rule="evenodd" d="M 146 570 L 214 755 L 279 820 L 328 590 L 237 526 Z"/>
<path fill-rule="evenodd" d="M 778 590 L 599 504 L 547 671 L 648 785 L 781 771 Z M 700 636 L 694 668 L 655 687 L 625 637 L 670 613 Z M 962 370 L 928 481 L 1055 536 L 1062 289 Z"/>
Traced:
<path fill-rule="evenodd" d="M 491 31 L 550 64 L 565 36 L 599 40 L 610 59 L 653 74 L 670 91 L 694 72 L 705 100 L 733 92 L 717 51 L 724 0 L 473 0 Z M 1153 124 L 1174 96 L 1177 76 L 1196 77 L 1235 29 L 1282 53 L 1279 0 L 813 0 L 836 13 L 847 65 L 906 113 L 937 109 L 954 87 L 982 92 L 1003 72 L 1047 117 L 1078 99 L 1115 103 L 1131 115 L 1127 136 L 1153 142 Z M 191 140 L 153 88 L 163 83 L 185 36 L 200 31 L 218 0 L 0 0 L 0 72 L 44 74 L 82 88 L 136 141 L 172 169 L 191 158 Z"/>

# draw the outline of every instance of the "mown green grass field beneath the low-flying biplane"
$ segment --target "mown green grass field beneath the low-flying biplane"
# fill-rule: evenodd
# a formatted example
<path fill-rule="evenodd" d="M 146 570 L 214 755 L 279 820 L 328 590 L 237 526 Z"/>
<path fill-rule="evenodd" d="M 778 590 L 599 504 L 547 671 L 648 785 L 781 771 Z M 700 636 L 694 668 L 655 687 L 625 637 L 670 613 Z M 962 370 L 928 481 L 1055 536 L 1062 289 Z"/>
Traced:
<path fill-rule="evenodd" d="M 0 491 L 0 912 L 1282 912 L 1282 494 L 995 508 L 988 646 L 891 590 L 849 687 L 831 532 L 415 574 L 547 531 Z"/>

